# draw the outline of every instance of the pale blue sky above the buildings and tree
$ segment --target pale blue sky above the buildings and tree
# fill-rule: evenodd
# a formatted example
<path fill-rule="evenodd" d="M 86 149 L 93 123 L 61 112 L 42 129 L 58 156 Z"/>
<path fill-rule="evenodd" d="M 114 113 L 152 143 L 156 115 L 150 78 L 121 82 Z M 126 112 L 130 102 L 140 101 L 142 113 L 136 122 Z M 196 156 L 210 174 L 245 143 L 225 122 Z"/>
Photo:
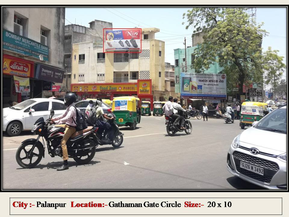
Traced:
<path fill-rule="evenodd" d="M 160 29 L 155 38 L 165 41 L 165 62 L 174 64 L 174 49 L 191 46 L 191 34 L 193 29 L 185 29 L 182 22 L 182 14 L 191 8 L 186 7 L 145 7 L 145 8 L 66 8 L 65 25 L 73 23 L 89 27 L 93 20 L 111 22 L 113 28 L 149 28 Z M 262 48 L 265 51 L 268 46 L 279 50 L 279 55 L 284 56 L 287 65 L 287 11 L 286 8 L 256 8 L 256 22 L 264 22 L 262 29 L 269 32 L 269 36 L 263 38 Z M 287 73 L 283 75 L 287 79 Z"/>

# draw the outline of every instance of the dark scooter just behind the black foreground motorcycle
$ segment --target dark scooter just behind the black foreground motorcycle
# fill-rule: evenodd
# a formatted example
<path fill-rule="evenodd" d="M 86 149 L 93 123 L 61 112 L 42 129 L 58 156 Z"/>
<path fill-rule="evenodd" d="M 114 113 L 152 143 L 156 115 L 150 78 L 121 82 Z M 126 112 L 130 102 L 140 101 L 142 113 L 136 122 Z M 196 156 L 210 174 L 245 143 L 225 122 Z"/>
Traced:
<path fill-rule="evenodd" d="M 120 128 L 117 125 L 116 116 L 113 113 L 107 114 L 107 117 L 114 118 L 113 120 L 108 120 L 109 124 L 111 125 L 110 131 L 106 134 L 105 138 L 102 137 L 101 140 L 99 140 L 99 134 L 97 133 L 98 142 L 99 145 L 108 145 L 111 144 L 113 147 L 118 148 L 123 143 L 123 133 L 120 132 Z M 112 140 L 109 140 L 108 138 L 113 138 Z"/>

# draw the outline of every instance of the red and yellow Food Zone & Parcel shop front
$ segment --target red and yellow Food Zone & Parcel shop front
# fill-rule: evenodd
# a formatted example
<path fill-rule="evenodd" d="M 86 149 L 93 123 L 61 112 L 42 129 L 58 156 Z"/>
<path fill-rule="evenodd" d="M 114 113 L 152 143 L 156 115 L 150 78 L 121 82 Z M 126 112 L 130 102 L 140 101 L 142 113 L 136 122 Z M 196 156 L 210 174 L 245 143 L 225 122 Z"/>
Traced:
<path fill-rule="evenodd" d="M 71 84 L 71 92 L 78 100 L 110 99 L 118 96 L 137 95 L 137 83 L 77 83 Z"/>

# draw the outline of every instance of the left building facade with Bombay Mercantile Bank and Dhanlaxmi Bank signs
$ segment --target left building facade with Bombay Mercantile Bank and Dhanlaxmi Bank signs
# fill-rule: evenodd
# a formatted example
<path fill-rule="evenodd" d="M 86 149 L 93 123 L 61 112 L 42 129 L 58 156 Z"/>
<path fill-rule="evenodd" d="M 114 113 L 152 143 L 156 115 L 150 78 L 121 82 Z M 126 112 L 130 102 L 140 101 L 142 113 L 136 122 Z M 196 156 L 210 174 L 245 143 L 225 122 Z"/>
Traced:
<path fill-rule="evenodd" d="M 2 8 L 4 104 L 45 97 L 62 83 L 64 19 L 65 8 Z M 14 75 L 25 80 L 24 89 L 17 82 L 15 89 Z"/>

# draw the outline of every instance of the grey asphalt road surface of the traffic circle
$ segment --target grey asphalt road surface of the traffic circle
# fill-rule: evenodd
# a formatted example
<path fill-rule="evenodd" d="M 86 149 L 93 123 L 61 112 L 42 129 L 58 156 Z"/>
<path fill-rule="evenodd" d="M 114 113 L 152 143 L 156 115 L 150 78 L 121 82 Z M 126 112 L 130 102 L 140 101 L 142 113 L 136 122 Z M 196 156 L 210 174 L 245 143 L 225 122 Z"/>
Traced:
<path fill-rule="evenodd" d="M 51 158 L 47 149 L 35 168 L 21 168 L 15 160 L 16 150 L 21 141 L 36 136 L 31 132 L 18 137 L 3 134 L 3 190 L 262 189 L 233 177 L 226 169 L 229 146 L 243 131 L 238 121 L 190 121 L 191 135 L 183 132 L 170 137 L 164 117 L 144 116 L 134 131 L 120 127 L 124 133 L 120 148 L 98 146 L 89 164 L 78 165 L 69 159 L 70 168 L 65 171 L 56 171 L 63 161 Z"/>

